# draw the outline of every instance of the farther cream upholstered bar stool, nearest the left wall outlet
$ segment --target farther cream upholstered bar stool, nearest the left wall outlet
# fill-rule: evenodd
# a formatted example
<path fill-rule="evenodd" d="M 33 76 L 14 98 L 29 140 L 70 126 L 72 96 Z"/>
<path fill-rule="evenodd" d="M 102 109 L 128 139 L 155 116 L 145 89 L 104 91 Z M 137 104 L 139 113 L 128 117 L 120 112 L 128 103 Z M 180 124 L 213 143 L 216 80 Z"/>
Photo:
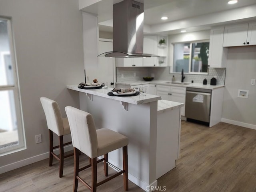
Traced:
<path fill-rule="evenodd" d="M 59 177 L 63 176 L 64 158 L 70 157 L 72 154 L 64 156 L 64 146 L 72 144 L 72 142 L 63 143 L 63 136 L 70 134 L 68 118 L 62 118 L 59 105 L 56 101 L 46 97 L 41 97 L 40 101 L 46 116 L 47 127 L 49 129 L 49 166 L 52 166 L 52 158 L 59 161 Z M 53 146 L 53 132 L 58 135 L 59 145 Z M 60 154 L 56 155 L 53 150 L 59 148 Z"/>

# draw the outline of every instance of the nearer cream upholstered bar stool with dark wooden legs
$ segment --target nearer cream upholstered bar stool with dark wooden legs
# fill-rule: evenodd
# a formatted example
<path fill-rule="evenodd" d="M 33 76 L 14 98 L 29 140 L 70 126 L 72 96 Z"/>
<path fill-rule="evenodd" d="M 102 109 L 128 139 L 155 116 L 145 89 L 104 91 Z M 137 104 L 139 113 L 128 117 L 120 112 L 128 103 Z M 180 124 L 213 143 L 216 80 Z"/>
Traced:
<path fill-rule="evenodd" d="M 91 192 L 96 192 L 96 187 L 123 174 L 124 190 L 128 190 L 128 159 L 127 145 L 128 138 L 112 130 L 101 128 L 96 130 L 94 119 L 90 113 L 77 108 L 65 107 L 71 130 L 72 144 L 74 146 L 74 186 L 73 191 L 77 192 L 78 180 L 87 186 Z M 108 176 L 108 152 L 118 148 L 123 150 L 123 170 L 97 183 L 97 163 L 104 161 L 105 176 Z M 79 168 L 79 150 L 90 158 L 90 164 Z M 104 155 L 104 158 L 97 161 L 97 157 Z M 112 164 L 110 164 L 113 166 Z M 92 184 L 89 186 L 78 173 L 86 168 L 92 167 Z M 119 170 L 117 168 L 117 170 Z"/>

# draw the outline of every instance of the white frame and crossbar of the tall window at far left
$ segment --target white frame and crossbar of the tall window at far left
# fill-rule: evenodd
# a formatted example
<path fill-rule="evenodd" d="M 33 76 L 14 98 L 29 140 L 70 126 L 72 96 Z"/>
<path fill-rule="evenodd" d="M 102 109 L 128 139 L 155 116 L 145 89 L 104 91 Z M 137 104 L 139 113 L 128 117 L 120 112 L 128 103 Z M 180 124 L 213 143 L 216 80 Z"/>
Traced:
<path fill-rule="evenodd" d="M 11 154 L 11 153 L 26 149 L 26 141 L 25 141 L 25 132 L 24 132 L 24 122 L 23 122 L 23 116 L 22 116 L 22 110 L 21 110 L 22 104 L 20 100 L 20 84 L 18 81 L 18 70 L 17 70 L 18 67 L 17 67 L 17 61 L 16 61 L 14 38 L 13 38 L 14 36 L 12 32 L 12 27 L 11 27 L 11 20 L 10 18 L 3 18 L 3 17 L 0 17 L 0 19 L 7 21 L 8 38 L 9 38 L 9 46 L 10 46 L 10 52 L 1 52 L 0 59 L 2 60 L 2 62 L 4 62 L 3 61 L 4 55 L 10 54 L 12 69 L 14 73 L 13 74 L 14 84 L 0 86 L 0 91 L 12 90 L 14 93 L 14 103 L 15 103 L 16 118 L 17 118 L 17 131 L 18 131 L 18 139 L 19 139 L 19 144 L 0 150 L 0 156 L 4 156 L 7 154 Z"/>

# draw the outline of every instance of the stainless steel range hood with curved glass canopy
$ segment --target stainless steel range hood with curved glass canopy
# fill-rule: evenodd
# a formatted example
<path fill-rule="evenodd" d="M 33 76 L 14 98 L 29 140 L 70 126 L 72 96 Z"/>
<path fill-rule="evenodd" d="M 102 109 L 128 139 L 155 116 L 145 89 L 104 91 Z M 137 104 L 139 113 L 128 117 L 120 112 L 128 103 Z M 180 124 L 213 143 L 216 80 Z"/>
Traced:
<path fill-rule="evenodd" d="M 113 5 L 113 51 L 98 56 L 151 57 L 143 54 L 144 4 L 124 0 Z M 156 55 L 154 55 L 156 56 Z"/>

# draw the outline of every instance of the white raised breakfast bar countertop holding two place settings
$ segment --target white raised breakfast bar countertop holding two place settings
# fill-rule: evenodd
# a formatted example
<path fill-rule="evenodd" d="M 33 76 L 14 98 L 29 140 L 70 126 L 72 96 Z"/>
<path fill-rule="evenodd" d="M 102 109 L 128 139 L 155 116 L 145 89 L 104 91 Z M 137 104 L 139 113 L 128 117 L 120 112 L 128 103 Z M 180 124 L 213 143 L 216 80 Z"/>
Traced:
<path fill-rule="evenodd" d="M 101 97 L 105 97 L 105 98 L 109 98 L 109 99 L 113 99 L 113 100 L 118 100 L 121 102 L 131 103 L 131 104 L 135 104 L 135 105 L 154 102 L 154 101 L 161 99 L 160 96 L 150 95 L 150 94 L 147 94 L 146 96 L 137 95 L 137 96 L 126 96 L 126 97 L 125 96 L 122 96 L 122 97 L 108 96 L 108 92 L 111 92 L 112 88 L 80 89 L 80 88 L 78 88 L 78 84 L 77 85 L 67 85 L 67 88 L 71 89 L 71 90 L 79 91 L 79 92 L 84 92 L 86 94 L 97 95 L 97 96 L 101 96 Z"/>

